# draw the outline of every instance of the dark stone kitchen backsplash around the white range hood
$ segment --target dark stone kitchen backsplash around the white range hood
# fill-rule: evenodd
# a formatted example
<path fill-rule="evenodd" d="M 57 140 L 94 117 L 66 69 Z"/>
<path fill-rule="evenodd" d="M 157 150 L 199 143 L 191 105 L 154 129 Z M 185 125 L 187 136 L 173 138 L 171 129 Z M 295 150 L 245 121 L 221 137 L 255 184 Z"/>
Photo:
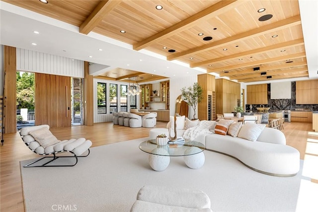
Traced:
<path fill-rule="evenodd" d="M 297 105 L 296 104 L 296 82 L 292 83 L 292 98 L 291 99 L 270 99 L 270 84 L 267 84 L 267 105 L 264 107 L 270 107 L 271 110 L 295 110 L 295 109 L 308 109 L 313 111 L 318 111 L 318 104 L 306 104 L 306 105 Z M 256 110 L 256 107 L 260 105 L 252 105 L 252 110 Z M 245 105 L 245 110 L 250 110 L 250 105 Z"/>

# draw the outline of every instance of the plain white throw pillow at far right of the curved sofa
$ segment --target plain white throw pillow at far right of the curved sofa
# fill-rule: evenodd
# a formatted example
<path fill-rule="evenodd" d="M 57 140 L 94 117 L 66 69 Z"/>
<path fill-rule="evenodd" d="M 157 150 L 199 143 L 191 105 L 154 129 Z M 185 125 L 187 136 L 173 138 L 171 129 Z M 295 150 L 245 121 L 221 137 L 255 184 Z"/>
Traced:
<path fill-rule="evenodd" d="M 249 141 L 256 141 L 265 127 L 266 125 L 247 122 L 240 129 L 238 137 Z"/>

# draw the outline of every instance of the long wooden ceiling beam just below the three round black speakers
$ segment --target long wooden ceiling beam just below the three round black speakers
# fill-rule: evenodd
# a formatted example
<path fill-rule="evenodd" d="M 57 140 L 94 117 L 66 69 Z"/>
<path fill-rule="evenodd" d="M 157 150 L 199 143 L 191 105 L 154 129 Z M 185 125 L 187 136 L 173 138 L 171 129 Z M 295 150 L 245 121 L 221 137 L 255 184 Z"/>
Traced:
<path fill-rule="evenodd" d="M 167 56 L 168 61 L 176 60 L 180 57 L 191 55 L 191 54 L 198 54 L 201 52 L 209 51 L 214 48 L 219 48 L 222 46 L 226 46 L 232 44 L 234 42 L 239 42 L 241 40 L 246 40 L 248 38 L 252 38 L 258 35 L 263 35 L 265 33 L 270 33 L 276 30 L 289 28 L 295 25 L 301 24 L 300 15 L 296 15 L 281 21 L 277 21 L 276 23 L 268 24 L 266 26 L 258 27 L 256 29 L 249 30 L 247 32 L 240 33 L 238 35 L 234 35 L 219 41 L 215 41 L 210 44 L 206 44 L 203 46 L 199 46 L 193 49 L 189 49 L 184 52 L 175 53 L 173 55 Z"/>

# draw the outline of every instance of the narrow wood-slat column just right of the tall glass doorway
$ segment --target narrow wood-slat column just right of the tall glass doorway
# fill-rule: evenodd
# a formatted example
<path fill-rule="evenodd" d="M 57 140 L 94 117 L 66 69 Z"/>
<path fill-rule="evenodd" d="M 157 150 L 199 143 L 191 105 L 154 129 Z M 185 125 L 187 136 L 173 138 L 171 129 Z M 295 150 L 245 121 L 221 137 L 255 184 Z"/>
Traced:
<path fill-rule="evenodd" d="M 84 125 L 94 125 L 93 76 L 89 75 L 88 62 L 84 62 Z"/>

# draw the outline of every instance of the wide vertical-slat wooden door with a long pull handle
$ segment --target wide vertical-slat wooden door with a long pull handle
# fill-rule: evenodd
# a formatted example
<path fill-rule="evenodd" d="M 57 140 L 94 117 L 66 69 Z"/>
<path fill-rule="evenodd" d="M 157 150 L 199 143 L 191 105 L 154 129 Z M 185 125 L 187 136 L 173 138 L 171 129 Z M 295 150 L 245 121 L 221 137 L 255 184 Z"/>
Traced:
<path fill-rule="evenodd" d="M 71 126 L 71 77 L 35 73 L 35 124 Z"/>

